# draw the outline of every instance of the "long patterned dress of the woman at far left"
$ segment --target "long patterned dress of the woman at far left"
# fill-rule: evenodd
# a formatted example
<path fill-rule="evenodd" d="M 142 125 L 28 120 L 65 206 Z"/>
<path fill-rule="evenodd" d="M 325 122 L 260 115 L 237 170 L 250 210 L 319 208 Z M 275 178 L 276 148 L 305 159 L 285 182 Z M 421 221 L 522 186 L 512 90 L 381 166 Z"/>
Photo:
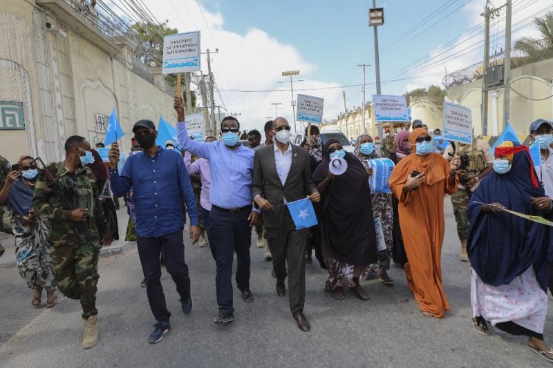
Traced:
<path fill-rule="evenodd" d="M 35 223 L 28 225 L 11 206 L 8 205 L 7 208 L 15 235 L 15 258 L 19 275 L 30 289 L 40 287 L 46 291 L 55 291 L 57 287 L 48 243 L 48 221 L 37 215 Z"/>

